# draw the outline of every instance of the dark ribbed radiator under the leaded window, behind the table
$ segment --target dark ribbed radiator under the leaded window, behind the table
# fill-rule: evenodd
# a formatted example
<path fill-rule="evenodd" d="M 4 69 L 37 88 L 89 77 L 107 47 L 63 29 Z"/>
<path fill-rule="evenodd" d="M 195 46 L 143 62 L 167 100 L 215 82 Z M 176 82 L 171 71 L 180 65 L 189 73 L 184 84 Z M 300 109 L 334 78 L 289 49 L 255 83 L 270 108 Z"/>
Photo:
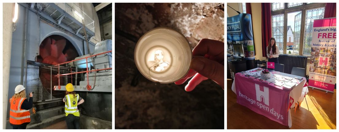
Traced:
<path fill-rule="evenodd" d="M 291 74 L 292 68 L 304 68 L 307 65 L 307 56 L 280 54 L 279 63 L 284 64 L 284 72 Z"/>

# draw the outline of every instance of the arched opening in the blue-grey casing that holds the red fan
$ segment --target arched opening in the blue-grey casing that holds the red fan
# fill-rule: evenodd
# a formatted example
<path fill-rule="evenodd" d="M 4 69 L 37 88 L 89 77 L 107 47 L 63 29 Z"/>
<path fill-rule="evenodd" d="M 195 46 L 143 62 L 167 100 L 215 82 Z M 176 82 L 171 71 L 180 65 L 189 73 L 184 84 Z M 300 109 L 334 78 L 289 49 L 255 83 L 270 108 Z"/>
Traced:
<path fill-rule="evenodd" d="M 36 56 L 36 61 L 46 64 L 60 64 L 63 62 L 74 60 L 79 56 L 76 48 L 73 44 L 61 35 L 51 35 L 46 37 L 39 47 L 39 55 Z M 60 74 L 71 73 L 71 68 L 60 68 L 54 66 L 44 66 L 42 64 L 39 67 L 39 81 L 38 92 L 36 93 L 35 101 L 47 101 L 53 99 L 63 98 L 65 91 L 53 90 L 54 86 L 59 85 L 59 78 L 55 77 L 59 72 Z M 73 72 L 75 70 L 73 69 Z M 77 80 L 77 82 L 79 82 Z M 75 76 L 67 75 L 60 77 L 60 85 L 66 85 L 72 83 L 75 85 Z"/>

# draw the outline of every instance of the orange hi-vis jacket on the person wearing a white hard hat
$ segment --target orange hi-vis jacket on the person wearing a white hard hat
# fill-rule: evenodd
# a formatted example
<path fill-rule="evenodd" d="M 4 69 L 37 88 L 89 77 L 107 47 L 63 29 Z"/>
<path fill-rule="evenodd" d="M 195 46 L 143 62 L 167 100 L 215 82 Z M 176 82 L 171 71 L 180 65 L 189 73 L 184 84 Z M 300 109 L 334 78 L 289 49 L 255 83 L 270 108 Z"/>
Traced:
<path fill-rule="evenodd" d="M 26 98 L 9 99 L 11 108 L 9 111 L 9 123 L 20 125 L 31 122 L 31 113 L 29 110 L 21 109 L 21 105 Z"/>

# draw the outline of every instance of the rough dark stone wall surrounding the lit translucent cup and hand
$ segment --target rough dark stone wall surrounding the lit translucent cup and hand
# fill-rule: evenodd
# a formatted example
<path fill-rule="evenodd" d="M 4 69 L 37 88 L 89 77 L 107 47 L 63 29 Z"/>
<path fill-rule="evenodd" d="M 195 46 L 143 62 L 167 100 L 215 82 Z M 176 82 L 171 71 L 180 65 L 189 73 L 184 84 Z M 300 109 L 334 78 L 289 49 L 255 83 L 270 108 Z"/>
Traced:
<path fill-rule="evenodd" d="M 138 39 L 156 27 L 224 41 L 223 3 L 115 4 L 115 129 L 224 129 L 224 90 L 212 80 L 193 91 L 143 77 L 134 62 Z"/>

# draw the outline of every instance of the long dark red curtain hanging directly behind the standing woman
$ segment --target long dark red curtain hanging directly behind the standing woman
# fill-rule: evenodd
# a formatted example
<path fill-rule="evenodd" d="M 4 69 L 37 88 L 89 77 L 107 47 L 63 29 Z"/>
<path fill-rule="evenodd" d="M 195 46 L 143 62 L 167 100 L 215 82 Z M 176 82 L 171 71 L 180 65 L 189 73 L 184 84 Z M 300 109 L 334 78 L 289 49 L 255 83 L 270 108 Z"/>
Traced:
<path fill-rule="evenodd" d="M 267 57 L 266 47 L 272 37 L 271 3 L 261 3 L 262 56 Z"/>

